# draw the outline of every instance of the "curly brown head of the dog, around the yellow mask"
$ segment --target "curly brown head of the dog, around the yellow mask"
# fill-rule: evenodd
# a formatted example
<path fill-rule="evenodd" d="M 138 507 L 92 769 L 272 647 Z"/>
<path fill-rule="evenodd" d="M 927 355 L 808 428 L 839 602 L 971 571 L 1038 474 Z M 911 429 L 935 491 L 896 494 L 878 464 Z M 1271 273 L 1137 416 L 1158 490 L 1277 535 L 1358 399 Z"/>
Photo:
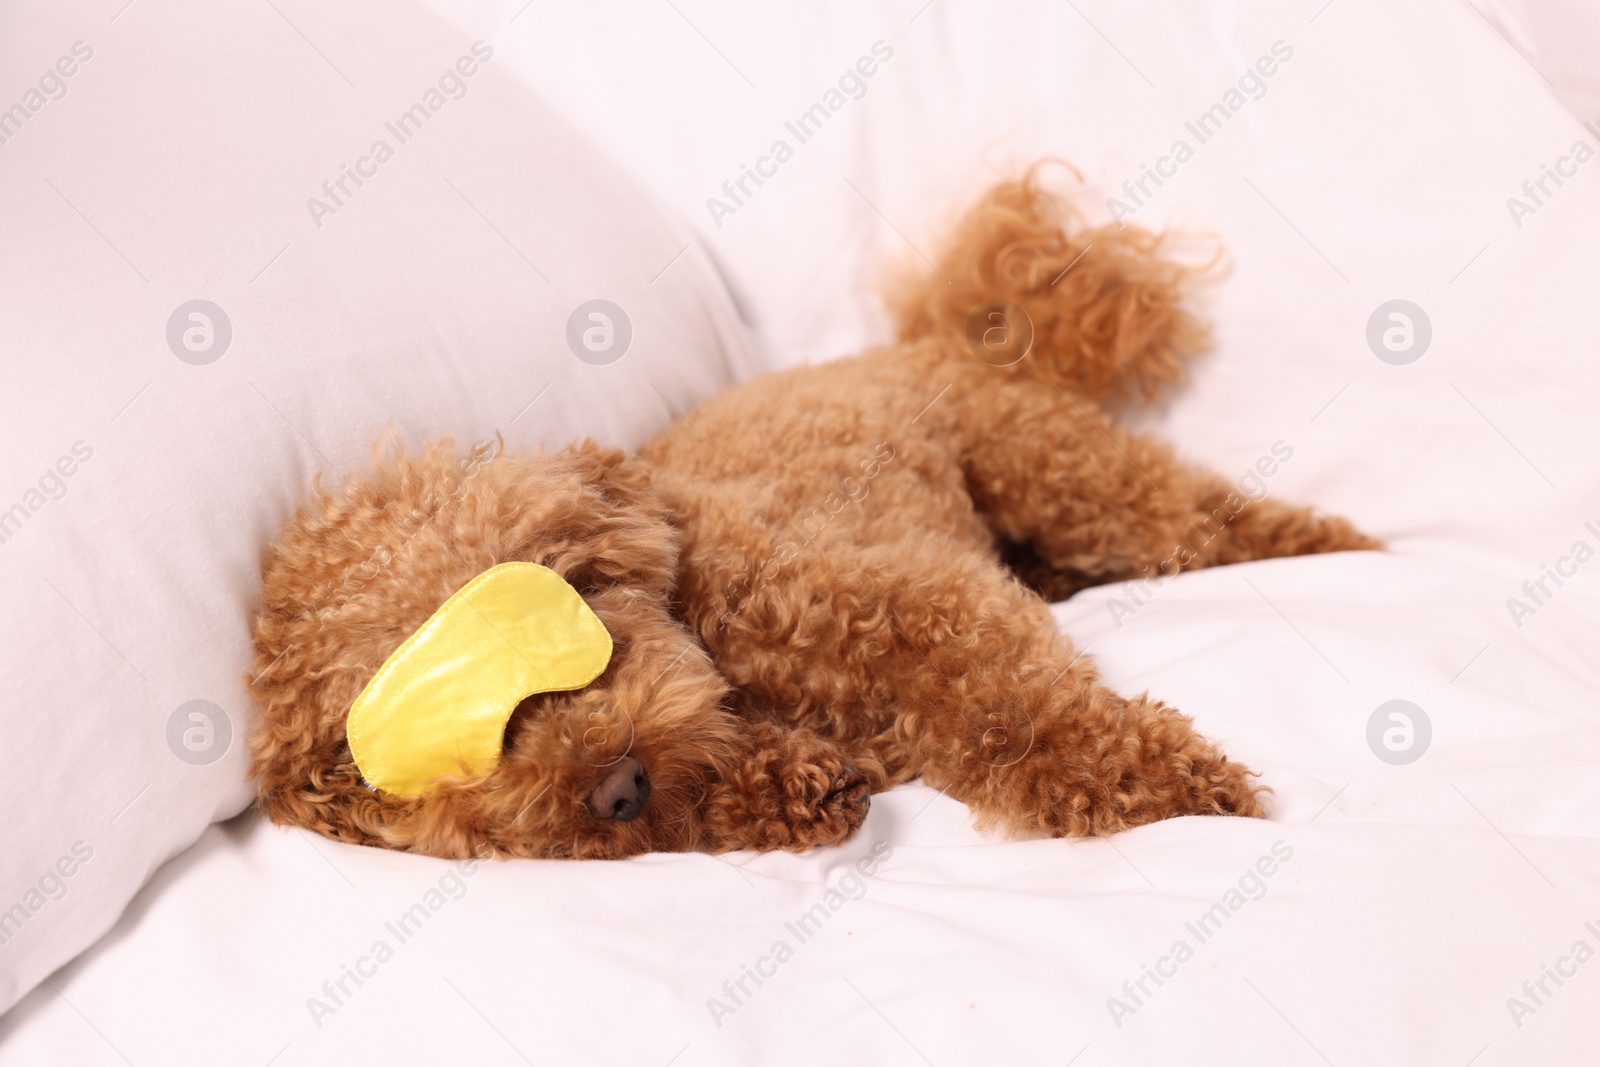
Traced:
<path fill-rule="evenodd" d="M 725 683 L 670 613 L 677 533 L 638 461 L 395 450 L 312 501 L 262 568 L 253 776 L 277 822 L 435 856 L 619 857 L 699 843 Z M 611 633 L 603 673 L 523 699 L 499 763 L 421 797 L 374 790 L 346 717 L 384 661 L 491 566 L 560 574 Z"/>

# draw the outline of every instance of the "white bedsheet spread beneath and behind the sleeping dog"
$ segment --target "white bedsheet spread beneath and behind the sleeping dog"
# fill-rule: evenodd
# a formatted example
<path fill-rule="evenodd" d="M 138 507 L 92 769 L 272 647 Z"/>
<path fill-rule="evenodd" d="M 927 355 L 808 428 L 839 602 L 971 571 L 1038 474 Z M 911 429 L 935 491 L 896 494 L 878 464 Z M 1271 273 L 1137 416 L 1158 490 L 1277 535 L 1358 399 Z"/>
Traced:
<path fill-rule="evenodd" d="M 926 248 L 984 160 L 1062 154 L 1102 203 L 1290 42 L 1266 96 L 1139 211 L 1230 258 L 1218 350 L 1152 422 L 1229 472 L 1291 443 L 1270 491 L 1392 552 L 1195 573 L 1133 614 L 1122 587 L 1058 606 L 1112 685 L 1262 773 L 1272 822 L 1003 843 L 910 785 L 840 849 L 458 883 L 245 816 L 0 1019 L 0 1064 L 1594 1059 L 1600 560 L 1573 545 L 1600 550 L 1600 162 L 1522 226 L 1506 202 L 1600 138 L 1470 6 L 435 6 L 696 219 L 778 362 L 882 330 L 874 266 Z M 896 51 L 866 96 L 717 229 L 704 200 L 875 40 Z M 1395 298 L 1434 325 L 1410 366 L 1363 336 Z M 1410 765 L 1368 747 L 1392 699 L 1430 723 Z M 875 873 L 850 875 L 874 846 Z M 440 907 L 398 944 L 386 923 L 429 888 Z M 362 963 L 379 939 L 394 957 Z M 763 961 L 779 941 L 792 957 Z M 334 1005 L 323 982 L 358 963 L 371 977 Z M 771 977 L 726 990 L 746 966 Z"/>

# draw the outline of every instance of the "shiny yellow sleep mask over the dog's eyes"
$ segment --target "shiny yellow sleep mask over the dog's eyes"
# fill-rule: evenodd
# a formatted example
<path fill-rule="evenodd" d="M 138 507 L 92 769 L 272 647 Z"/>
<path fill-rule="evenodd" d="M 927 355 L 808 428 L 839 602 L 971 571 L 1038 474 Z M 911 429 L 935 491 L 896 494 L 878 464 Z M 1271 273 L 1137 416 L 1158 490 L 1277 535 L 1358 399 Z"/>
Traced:
<path fill-rule="evenodd" d="M 350 705 L 355 766 L 386 793 L 419 797 L 442 774 L 499 763 L 506 721 L 534 693 L 581 689 L 611 662 L 605 624 L 560 574 L 501 563 L 446 600 Z"/>

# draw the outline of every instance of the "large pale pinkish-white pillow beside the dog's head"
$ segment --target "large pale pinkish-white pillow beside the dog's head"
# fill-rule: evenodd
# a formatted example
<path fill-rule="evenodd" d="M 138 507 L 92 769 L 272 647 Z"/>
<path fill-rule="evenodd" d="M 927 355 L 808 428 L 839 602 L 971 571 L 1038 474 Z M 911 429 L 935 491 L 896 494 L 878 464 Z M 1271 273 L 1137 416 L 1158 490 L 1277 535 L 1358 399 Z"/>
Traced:
<path fill-rule="evenodd" d="M 317 472 L 635 446 L 758 370 L 690 227 L 501 66 L 378 0 L 11 11 L 0 1009 L 250 803 L 259 558 Z"/>

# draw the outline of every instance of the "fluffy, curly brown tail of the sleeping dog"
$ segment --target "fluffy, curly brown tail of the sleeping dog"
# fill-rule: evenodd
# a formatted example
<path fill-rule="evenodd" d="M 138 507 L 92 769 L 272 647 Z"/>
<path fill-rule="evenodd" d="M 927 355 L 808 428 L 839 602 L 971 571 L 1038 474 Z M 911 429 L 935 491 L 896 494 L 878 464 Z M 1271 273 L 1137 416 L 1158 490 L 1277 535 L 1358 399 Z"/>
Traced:
<path fill-rule="evenodd" d="M 1165 235 L 1138 226 L 1083 226 L 1040 186 L 1042 166 L 992 187 L 934 270 L 890 288 L 899 339 L 962 338 L 995 366 L 1093 400 L 1154 400 L 1210 344 L 1182 304 L 1186 282 L 1210 264 L 1163 256 Z"/>

